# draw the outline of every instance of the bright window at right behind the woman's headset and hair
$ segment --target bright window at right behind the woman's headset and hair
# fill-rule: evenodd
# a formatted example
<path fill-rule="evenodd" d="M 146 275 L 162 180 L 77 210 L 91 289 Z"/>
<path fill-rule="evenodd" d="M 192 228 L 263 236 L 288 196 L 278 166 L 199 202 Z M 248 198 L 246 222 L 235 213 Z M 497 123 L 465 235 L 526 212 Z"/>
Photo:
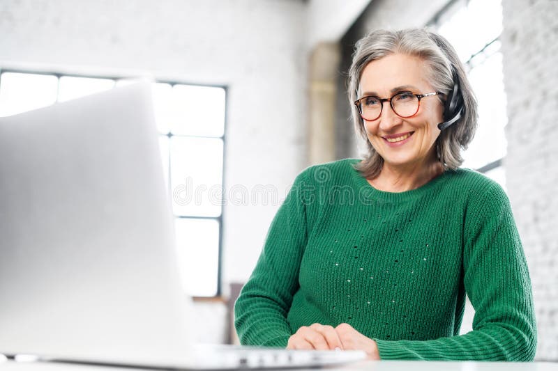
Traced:
<path fill-rule="evenodd" d="M 449 1 L 429 26 L 455 47 L 478 100 L 478 129 L 463 155 L 463 166 L 485 173 L 505 189 L 502 159 L 506 156 L 504 127 L 508 118 L 499 41 L 502 3 Z"/>

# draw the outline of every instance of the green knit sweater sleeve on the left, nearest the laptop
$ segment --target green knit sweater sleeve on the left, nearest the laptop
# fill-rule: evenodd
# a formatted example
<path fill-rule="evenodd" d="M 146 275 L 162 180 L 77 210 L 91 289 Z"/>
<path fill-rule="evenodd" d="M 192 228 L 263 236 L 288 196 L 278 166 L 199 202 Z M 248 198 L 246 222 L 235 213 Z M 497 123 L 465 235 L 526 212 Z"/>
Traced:
<path fill-rule="evenodd" d="M 299 269 L 308 239 L 305 173 L 296 177 L 271 222 L 264 249 L 234 306 L 242 345 L 285 347 L 292 335 L 287 314 L 299 289 Z"/>

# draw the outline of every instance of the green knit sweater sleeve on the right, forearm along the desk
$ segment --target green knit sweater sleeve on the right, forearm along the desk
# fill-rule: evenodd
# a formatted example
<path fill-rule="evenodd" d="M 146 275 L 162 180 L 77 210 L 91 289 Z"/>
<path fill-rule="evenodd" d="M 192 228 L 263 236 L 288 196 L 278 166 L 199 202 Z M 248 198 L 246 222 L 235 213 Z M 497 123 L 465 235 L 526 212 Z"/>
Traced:
<path fill-rule="evenodd" d="M 463 274 L 473 331 L 435 340 L 376 340 L 380 358 L 532 361 L 536 324 L 531 282 L 509 200 L 491 183 L 465 216 Z"/>

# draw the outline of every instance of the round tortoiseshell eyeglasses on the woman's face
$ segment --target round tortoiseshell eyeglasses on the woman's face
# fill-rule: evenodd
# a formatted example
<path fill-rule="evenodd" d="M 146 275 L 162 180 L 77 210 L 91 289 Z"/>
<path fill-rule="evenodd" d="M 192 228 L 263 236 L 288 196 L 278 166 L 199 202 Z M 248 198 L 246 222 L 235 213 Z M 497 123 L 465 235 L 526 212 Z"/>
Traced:
<path fill-rule="evenodd" d="M 354 102 L 356 108 L 359 109 L 361 113 L 361 118 L 366 121 L 374 121 L 382 115 L 382 109 L 384 108 L 384 102 L 389 102 L 393 112 L 401 118 L 409 118 L 418 112 L 418 108 L 421 106 L 421 99 L 423 97 L 431 97 L 432 95 L 442 94 L 439 92 L 426 93 L 426 94 L 413 94 L 408 91 L 403 91 L 393 95 L 391 98 L 379 98 L 379 97 L 362 97 Z"/>

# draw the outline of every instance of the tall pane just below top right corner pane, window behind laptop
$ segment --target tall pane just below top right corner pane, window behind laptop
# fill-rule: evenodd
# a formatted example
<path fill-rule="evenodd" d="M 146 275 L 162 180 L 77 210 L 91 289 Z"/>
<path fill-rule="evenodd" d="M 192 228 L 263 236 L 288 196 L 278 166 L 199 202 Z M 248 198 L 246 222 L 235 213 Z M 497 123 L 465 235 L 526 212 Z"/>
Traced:
<path fill-rule="evenodd" d="M 223 140 L 173 136 L 170 148 L 174 214 L 219 216 L 223 189 Z"/>

